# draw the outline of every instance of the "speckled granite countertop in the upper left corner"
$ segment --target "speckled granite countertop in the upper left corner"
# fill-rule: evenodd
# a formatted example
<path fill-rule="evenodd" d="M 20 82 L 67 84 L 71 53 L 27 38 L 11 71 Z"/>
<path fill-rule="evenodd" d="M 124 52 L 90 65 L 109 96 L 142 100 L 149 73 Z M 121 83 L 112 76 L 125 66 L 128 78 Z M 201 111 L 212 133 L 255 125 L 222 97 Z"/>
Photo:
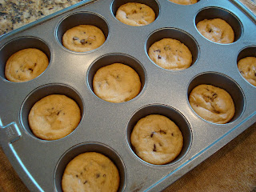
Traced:
<path fill-rule="evenodd" d="M 82 0 L 0 0 L 0 35 Z"/>

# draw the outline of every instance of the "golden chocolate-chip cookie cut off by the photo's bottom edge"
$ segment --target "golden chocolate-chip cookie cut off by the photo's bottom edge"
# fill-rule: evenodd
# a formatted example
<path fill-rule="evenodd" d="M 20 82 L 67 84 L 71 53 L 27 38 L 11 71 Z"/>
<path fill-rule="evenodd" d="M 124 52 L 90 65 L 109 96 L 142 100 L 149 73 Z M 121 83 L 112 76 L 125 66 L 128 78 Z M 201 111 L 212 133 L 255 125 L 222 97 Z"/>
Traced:
<path fill-rule="evenodd" d="M 63 192 L 116 192 L 119 173 L 114 163 L 103 154 L 86 152 L 71 160 L 62 176 Z"/>

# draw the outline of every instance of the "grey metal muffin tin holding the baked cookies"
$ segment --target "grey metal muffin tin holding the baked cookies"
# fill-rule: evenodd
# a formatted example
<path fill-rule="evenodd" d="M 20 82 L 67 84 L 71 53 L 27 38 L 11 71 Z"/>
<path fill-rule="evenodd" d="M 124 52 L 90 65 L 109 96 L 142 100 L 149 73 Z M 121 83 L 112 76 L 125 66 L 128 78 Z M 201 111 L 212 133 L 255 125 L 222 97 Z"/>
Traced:
<path fill-rule="evenodd" d="M 126 2 L 153 8 L 156 20 L 147 26 L 127 26 L 114 14 Z M 198 33 L 196 23 L 222 18 L 234 29 L 230 44 L 210 42 Z M 200 0 L 181 6 L 168 0 L 83 1 L 0 39 L 0 141 L 14 169 L 31 191 L 62 191 L 66 164 L 76 155 L 96 151 L 118 167 L 118 191 L 160 191 L 182 177 L 215 151 L 256 122 L 256 87 L 246 82 L 237 62 L 256 56 L 255 15 L 238 1 Z M 98 26 L 106 42 L 96 50 L 76 53 L 62 46 L 62 34 L 79 24 Z M 186 70 L 164 70 L 147 54 L 161 38 L 176 38 L 189 47 L 193 64 Z M 50 64 L 38 78 L 10 82 L 4 76 L 6 60 L 18 50 L 34 47 L 46 53 Z M 142 90 L 129 102 L 111 103 L 98 98 L 92 78 L 101 66 L 122 62 L 134 68 Z M 227 90 L 235 104 L 232 120 L 224 125 L 198 117 L 188 102 L 190 91 L 200 84 Z M 36 138 L 27 116 L 40 98 L 65 94 L 78 103 L 82 120 L 65 138 Z M 182 131 L 181 154 L 156 166 L 138 158 L 130 145 L 130 133 L 138 119 L 163 114 Z"/>

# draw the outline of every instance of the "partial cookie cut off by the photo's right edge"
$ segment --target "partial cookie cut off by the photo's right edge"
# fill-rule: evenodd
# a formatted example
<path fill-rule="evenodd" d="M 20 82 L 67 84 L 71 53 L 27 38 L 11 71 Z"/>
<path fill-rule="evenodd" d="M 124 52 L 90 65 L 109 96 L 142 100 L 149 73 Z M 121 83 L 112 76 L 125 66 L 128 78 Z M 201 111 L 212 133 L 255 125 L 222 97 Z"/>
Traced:
<path fill-rule="evenodd" d="M 242 58 L 238 62 L 238 70 L 242 77 L 246 78 L 247 82 L 256 86 L 256 58 Z"/>

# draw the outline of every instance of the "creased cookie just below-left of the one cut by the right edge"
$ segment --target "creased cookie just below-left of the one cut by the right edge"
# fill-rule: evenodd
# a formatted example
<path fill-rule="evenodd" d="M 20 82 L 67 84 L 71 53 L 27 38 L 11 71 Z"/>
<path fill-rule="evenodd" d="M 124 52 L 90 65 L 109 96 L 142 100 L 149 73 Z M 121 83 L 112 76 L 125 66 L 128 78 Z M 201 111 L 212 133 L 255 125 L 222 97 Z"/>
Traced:
<path fill-rule="evenodd" d="M 234 116 L 234 102 L 230 94 L 216 86 L 196 86 L 189 96 L 190 106 L 206 121 L 218 124 L 229 122 Z"/>

